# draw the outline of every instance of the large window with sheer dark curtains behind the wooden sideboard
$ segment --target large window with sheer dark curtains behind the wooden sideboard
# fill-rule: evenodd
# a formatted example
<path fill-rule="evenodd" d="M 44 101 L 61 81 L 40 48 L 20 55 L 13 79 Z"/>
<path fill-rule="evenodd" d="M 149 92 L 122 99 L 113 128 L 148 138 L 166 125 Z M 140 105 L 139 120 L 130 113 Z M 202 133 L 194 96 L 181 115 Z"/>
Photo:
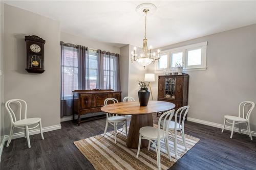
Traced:
<path fill-rule="evenodd" d="M 73 90 L 120 89 L 119 55 L 61 44 L 61 117 L 72 115 Z"/>

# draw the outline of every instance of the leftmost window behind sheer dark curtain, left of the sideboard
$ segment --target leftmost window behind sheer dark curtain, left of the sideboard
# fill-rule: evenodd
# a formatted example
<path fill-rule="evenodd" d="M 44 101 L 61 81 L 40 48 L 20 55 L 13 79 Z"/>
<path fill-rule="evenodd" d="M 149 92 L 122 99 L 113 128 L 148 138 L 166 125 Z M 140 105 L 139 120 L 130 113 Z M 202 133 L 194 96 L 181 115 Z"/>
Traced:
<path fill-rule="evenodd" d="M 72 99 L 72 91 L 78 89 L 78 57 L 77 48 L 63 46 L 62 71 L 62 98 Z"/>

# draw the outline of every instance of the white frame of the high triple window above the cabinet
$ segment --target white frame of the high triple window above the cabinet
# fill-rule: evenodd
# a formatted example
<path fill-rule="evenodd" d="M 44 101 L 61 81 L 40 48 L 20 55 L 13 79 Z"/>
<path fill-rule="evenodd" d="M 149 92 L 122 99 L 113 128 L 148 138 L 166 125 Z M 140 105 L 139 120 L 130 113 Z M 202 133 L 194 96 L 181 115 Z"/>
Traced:
<path fill-rule="evenodd" d="M 172 67 L 172 55 L 175 53 L 179 53 L 182 52 L 182 62 L 184 63 L 184 67 L 183 70 L 184 71 L 195 71 L 195 70 L 206 70 L 207 69 L 207 65 L 206 65 L 206 61 L 207 61 L 207 44 L 208 42 L 200 42 L 200 43 L 196 43 L 196 44 L 190 44 L 190 45 L 185 45 L 185 46 L 181 46 L 181 47 L 177 47 L 177 48 L 172 48 L 169 50 L 164 50 L 162 52 L 160 52 L 160 56 L 163 54 L 168 54 L 168 63 L 167 63 L 167 69 L 169 68 L 175 68 Z M 188 51 L 190 50 L 196 50 L 201 48 L 201 65 L 191 65 L 188 66 L 187 65 L 187 57 L 188 57 Z M 163 70 L 163 69 L 159 69 L 159 62 L 157 63 L 157 71 Z"/>

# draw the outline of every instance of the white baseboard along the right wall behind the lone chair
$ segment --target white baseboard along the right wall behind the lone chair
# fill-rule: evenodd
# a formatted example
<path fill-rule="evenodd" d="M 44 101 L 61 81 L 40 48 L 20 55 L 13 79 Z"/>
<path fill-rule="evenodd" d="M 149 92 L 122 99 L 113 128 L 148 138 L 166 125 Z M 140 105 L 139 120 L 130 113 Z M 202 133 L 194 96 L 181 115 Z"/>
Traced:
<path fill-rule="evenodd" d="M 198 123 L 198 124 L 203 124 L 203 125 L 207 125 L 207 126 L 212 126 L 212 127 L 216 127 L 216 128 L 220 128 L 222 129 L 223 128 L 223 125 L 222 124 L 217 124 L 217 123 L 213 123 L 213 122 L 208 122 L 208 121 L 205 121 L 205 120 L 200 120 L 200 119 L 197 119 L 197 118 L 192 118 L 192 117 L 187 117 L 187 120 L 190 121 L 190 122 L 195 122 L 195 123 Z M 225 130 L 229 130 L 231 131 L 232 127 L 231 126 L 225 126 Z M 239 132 L 238 131 L 238 128 L 234 128 L 234 132 Z M 241 129 L 241 132 L 243 134 L 246 134 L 248 135 L 248 131 L 247 129 Z M 251 135 L 252 136 L 256 136 L 256 132 L 255 131 L 251 131 Z"/>

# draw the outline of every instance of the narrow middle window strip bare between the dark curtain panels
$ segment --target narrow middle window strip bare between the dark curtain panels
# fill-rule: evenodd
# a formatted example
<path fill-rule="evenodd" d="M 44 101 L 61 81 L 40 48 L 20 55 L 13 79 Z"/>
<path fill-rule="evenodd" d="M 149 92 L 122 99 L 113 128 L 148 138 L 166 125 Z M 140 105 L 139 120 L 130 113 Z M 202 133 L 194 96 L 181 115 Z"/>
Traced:
<path fill-rule="evenodd" d="M 89 50 L 89 87 L 90 89 L 97 88 L 97 70 L 98 70 L 98 61 L 97 53 L 94 50 Z"/>

